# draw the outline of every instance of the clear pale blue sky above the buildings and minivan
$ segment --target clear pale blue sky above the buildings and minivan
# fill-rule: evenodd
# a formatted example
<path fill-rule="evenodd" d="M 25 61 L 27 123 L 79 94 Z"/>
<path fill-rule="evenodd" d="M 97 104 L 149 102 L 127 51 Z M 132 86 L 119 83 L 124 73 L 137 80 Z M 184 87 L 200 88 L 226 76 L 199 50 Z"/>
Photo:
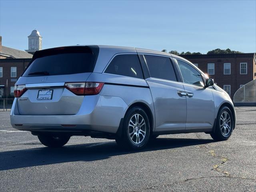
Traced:
<path fill-rule="evenodd" d="M 256 0 L 0 0 L 2 45 L 25 50 L 76 44 L 207 53 L 256 52 Z"/>

